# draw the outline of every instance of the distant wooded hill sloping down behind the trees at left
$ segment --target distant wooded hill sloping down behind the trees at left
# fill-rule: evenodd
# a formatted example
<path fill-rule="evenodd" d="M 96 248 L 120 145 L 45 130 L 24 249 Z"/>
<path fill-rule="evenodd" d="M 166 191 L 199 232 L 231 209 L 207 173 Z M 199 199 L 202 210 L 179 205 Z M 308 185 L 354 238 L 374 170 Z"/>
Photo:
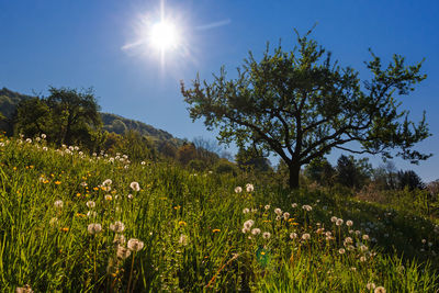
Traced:
<path fill-rule="evenodd" d="M 0 121 L 0 129 L 7 133 L 12 132 L 11 119 L 14 114 L 16 105 L 26 99 L 33 98 L 32 95 L 22 94 L 11 91 L 7 88 L 0 90 L 0 114 L 5 117 Z M 147 136 L 156 142 L 158 145 L 162 142 L 169 142 L 175 146 L 181 145 L 182 139 L 173 137 L 170 133 L 157 129 L 146 123 L 122 117 L 111 113 L 100 113 L 103 122 L 103 129 L 116 134 L 123 134 L 125 131 L 137 131 L 140 135 Z"/>

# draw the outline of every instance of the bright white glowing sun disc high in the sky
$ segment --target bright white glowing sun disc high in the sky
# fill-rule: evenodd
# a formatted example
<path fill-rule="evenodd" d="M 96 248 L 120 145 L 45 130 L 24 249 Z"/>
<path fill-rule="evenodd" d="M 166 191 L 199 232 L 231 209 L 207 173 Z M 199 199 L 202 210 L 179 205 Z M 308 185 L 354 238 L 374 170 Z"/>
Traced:
<path fill-rule="evenodd" d="M 151 26 L 149 41 L 154 47 L 164 52 L 177 48 L 180 36 L 172 22 L 162 20 Z"/>

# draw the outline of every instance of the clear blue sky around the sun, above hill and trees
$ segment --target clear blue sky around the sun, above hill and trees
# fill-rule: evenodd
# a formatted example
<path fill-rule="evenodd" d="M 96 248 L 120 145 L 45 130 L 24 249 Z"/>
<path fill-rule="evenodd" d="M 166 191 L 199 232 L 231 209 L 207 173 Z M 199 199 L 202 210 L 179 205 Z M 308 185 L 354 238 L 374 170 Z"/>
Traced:
<path fill-rule="evenodd" d="M 202 122 L 190 120 L 179 81 L 189 82 L 196 72 L 211 79 L 222 65 L 234 77 L 249 49 L 258 56 L 268 41 L 280 38 L 285 49 L 292 48 L 294 27 L 305 33 L 318 23 L 313 37 L 363 76 L 369 47 L 385 60 L 394 53 L 408 63 L 426 58 L 427 80 L 402 101 L 416 121 L 427 111 L 434 136 L 418 149 L 435 156 L 419 166 L 395 164 L 426 181 L 439 178 L 439 2 L 168 0 L 164 7 L 182 45 L 161 60 L 148 46 L 126 49 L 145 33 L 143 23 L 159 20 L 159 0 L 0 0 L 0 87 L 27 94 L 45 94 L 48 86 L 93 87 L 104 112 L 181 138 L 213 138 Z M 375 167 L 381 162 L 371 161 Z"/>

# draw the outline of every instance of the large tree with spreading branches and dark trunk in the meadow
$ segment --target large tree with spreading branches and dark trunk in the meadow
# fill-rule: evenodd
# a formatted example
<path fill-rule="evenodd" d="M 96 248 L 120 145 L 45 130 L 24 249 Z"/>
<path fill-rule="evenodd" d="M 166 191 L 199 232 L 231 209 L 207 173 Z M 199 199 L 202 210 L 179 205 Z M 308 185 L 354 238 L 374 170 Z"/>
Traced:
<path fill-rule="evenodd" d="M 421 63 L 406 66 L 394 55 L 383 68 L 371 52 L 367 68 L 372 78 L 361 86 L 359 72 L 333 63 L 309 33 L 297 34 L 292 52 L 279 45 L 271 55 L 267 46 L 260 61 L 250 52 L 235 79 L 227 80 L 223 67 L 211 83 L 198 76 L 188 89 L 181 81 L 192 120 L 204 117 L 207 129 L 219 128 L 219 143 L 279 155 L 288 165 L 290 188 L 299 187 L 301 166 L 333 148 L 401 156 L 414 164 L 427 159 L 430 155 L 413 149 L 430 135 L 425 115 L 415 125 L 396 100 L 426 78 Z M 350 142 L 360 148 L 348 147 Z"/>

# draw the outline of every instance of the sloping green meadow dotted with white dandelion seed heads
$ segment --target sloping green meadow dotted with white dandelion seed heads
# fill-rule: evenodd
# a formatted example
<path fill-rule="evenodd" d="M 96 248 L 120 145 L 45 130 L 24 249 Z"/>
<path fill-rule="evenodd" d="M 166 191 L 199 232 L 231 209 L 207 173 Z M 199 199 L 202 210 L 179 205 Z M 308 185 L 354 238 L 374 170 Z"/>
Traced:
<path fill-rule="evenodd" d="M 0 137 L 1 292 L 439 291 L 421 215 L 128 159 Z"/>

